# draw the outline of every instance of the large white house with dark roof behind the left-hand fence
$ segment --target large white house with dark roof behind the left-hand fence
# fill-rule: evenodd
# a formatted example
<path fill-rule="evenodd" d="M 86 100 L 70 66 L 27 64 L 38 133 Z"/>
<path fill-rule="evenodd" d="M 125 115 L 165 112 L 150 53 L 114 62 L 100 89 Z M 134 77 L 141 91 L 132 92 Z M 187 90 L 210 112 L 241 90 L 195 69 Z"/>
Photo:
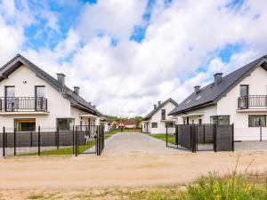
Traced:
<path fill-rule="evenodd" d="M 100 124 L 101 112 L 71 91 L 65 76 L 57 79 L 18 54 L 0 68 L 0 128 L 18 132 L 37 126 L 70 130 L 73 125 Z"/>

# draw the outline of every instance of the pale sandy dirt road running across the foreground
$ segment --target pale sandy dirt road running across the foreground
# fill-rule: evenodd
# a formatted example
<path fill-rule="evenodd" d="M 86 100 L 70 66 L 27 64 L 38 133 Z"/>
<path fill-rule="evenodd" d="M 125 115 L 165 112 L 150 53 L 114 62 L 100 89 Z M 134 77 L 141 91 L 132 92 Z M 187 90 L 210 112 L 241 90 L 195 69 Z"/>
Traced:
<path fill-rule="evenodd" d="M 182 185 L 208 172 L 266 171 L 267 152 L 22 157 L 0 160 L 0 189 L 84 189 Z"/>

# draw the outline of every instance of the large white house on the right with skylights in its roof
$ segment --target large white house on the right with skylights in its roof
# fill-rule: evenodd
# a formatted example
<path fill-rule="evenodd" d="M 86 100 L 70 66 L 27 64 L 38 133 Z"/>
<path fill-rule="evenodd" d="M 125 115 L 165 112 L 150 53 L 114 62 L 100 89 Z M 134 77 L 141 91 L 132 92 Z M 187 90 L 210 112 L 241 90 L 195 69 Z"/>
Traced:
<path fill-rule="evenodd" d="M 267 56 L 227 76 L 215 74 L 169 115 L 176 124 L 234 124 L 235 140 L 267 140 Z"/>

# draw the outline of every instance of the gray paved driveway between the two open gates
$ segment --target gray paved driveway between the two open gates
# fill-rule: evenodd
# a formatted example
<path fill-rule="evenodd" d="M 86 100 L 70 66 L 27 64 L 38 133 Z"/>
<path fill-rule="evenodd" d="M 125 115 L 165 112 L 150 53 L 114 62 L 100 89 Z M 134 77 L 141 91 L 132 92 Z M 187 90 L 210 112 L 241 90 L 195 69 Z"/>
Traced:
<path fill-rule="evenodd" d="M 125 155 L 132 153 L 172 154 L 183 150 L 166 148 L 166 142 L 140 132 L 119 132 L 109 138 L 102 155 Z"/>

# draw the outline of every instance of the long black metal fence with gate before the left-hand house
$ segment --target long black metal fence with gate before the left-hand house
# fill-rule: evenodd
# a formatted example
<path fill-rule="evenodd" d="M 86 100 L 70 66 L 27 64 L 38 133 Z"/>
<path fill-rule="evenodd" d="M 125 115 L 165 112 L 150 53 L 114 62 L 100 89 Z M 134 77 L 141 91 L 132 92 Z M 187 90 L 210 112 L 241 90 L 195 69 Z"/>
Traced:
<path fill-rule="evenodd" d="M 17 132 L 3 128 L 0 132 L 0 156 L 101 155 L 104 127 L 73 126 L 70 131 L 37 127 L 36 132 Z"/>

